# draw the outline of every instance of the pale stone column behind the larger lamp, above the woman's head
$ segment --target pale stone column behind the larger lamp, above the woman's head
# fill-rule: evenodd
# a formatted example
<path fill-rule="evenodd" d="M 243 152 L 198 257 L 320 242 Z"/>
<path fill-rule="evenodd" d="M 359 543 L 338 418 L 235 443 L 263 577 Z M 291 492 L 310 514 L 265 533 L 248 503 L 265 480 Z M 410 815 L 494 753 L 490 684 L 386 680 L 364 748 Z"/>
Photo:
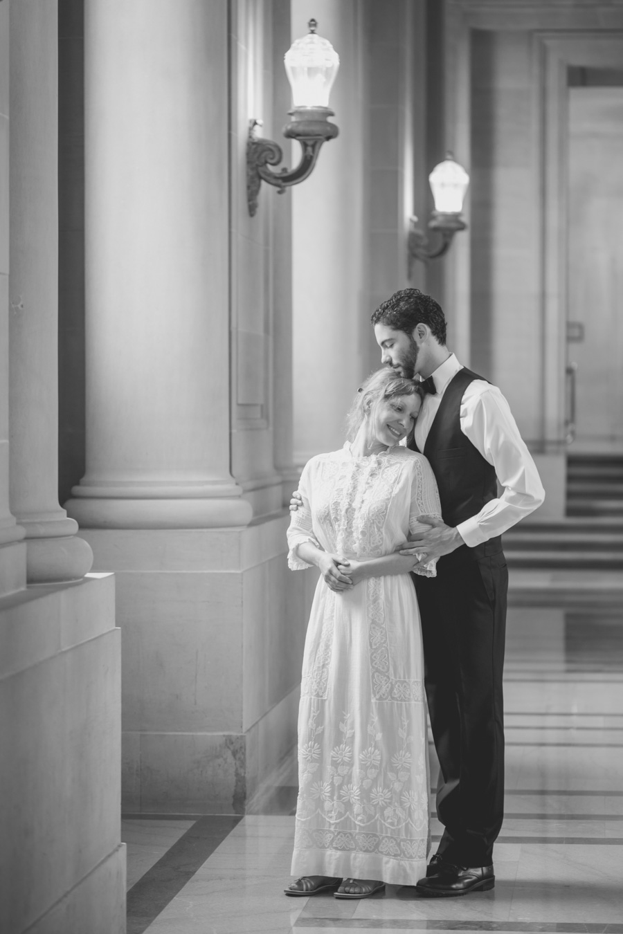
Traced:
<path fill-rule="evenodd" d="M 361 301 L 366 276 L 362 9 L 358 0 L 300 0 L 292 5 L 292 36 L 305 35 L 307 21 L 314 17 L 319 35 L 340 56 L 330 100 L 340 134 L 322 147 L 312 175 L 291 190 L 297 464 L 344 444 L 344 418 L 368 372 L 372 329 Z M 294 152 L 298 159 L 299 152 Z"/>

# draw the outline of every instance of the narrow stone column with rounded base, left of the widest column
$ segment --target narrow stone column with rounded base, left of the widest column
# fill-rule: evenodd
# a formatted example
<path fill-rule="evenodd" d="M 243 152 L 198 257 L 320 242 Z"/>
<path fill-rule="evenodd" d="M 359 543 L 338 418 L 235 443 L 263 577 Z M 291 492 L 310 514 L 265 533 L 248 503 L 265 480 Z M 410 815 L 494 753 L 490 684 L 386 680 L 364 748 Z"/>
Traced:
<path fill-rule="evenodd" d="M 35 584 L 77 580 L 92 565 L 58 502 L 56 33 L 56 0 L 11 5 L 9 488 Z"/>

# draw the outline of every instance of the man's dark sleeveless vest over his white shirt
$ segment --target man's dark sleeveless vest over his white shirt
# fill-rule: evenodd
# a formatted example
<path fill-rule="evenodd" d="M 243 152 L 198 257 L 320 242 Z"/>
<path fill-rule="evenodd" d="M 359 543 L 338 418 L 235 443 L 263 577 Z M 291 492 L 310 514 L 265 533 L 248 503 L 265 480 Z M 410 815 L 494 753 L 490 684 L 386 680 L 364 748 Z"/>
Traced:
<path fill-rule="evenodd" d="M 498 495 L 495 468 L 485 460 L 472 442 L 460 431 L 460 402 L 465 389 L 474 379 L 482 379 L 463 368 L 448 383 L 432 420 L 431 429 L 421 452 L 430 461 L 441 500 L 442 517 L 453 528 L 472 516 Z M 411 446 L 417 450 L 415 442 Z M 502 549 L 502 538 L 490 538 L 483 545 L 457 552 L 479 558 Z M 457 558 L 459 554 L 454 553 Z"/>

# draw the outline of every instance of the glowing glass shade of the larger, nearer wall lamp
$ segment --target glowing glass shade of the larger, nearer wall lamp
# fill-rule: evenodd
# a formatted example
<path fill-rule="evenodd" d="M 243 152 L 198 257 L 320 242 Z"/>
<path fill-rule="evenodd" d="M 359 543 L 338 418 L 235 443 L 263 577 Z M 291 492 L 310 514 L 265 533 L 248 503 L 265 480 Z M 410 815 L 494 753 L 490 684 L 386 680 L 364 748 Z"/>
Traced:
<path fill-rule="evenodd" d="M 284 56 L 295 107 L 328 107 L 340 66 L 339 55 L 331 42 L 316 35 L 315 28 L 316 22 L 311 20 L 311 31 L 302 39 L 296 39 Z"/>

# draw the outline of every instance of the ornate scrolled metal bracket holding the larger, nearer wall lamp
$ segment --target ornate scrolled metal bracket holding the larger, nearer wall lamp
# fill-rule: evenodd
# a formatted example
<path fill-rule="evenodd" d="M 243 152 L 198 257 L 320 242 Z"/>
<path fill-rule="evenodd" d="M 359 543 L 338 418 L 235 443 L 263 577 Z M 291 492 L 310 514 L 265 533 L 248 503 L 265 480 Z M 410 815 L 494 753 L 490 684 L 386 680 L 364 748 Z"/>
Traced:
<path fill-rule="evenodd" d="M 272 139 L 256 136 L 255 129 L 262 126 L 262 120 L 249 120 L 247 141 L 247 201 L 248 213 L 255 216 L 258 209 L 258 195 L 262 181 L 273 185 L 279 194 L 283 194 L 291 185 L 298 185 L 311 175 L 320 147 L 339 133 L 337 126 L 330 123 L 333 110 L 329 107 L 295 107 L 290 110 L 292 120 L 283 134 L 289 139 L 298 139 L 301 143 L 301 161 L 295 169 L 282 168 L 273 172 L 269 165 L 278 165 L 283 152 Z"/>

